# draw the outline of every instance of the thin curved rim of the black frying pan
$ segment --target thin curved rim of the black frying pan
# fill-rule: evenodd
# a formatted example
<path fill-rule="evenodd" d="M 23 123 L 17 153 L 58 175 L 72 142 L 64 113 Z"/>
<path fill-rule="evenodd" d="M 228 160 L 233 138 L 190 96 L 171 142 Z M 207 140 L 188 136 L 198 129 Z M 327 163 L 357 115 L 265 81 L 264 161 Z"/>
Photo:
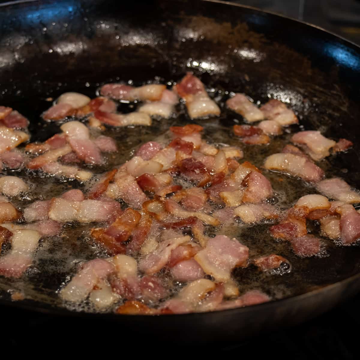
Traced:
<path fill-rule="evenodd" d="M 236 6 L 238 8 L 245 8 L 245 9 L 250 9 L 253 10 L 255 12 L 258 13 L 263 13 L 263 14 L 269 14 L 271 16 L 275 16 L 275 17 L 281 17 L 281 18 L 285 18 L 288 19 L 290 21 L 296 21 L 297 23 L 300 24 L 304 24 L 306 26 L 310 26 L 312 28 L 316 28 L 317 30 L 323 31 L 325 33 L 328 33 L 329 35 L 335 37 L 337 40 L 341 40 L 343 43 L 345 43 L 346 46 L 349 46 L 354 48 L 355 50 L 357 50 L 359 52 L 360 55 L 360 46 L 355 44 L 354 42 L 352 42 L 351 40 L 347 40 L 344 37 L 342 37 L 341 35 L 338 35 L 332 31 L 326 30 L 323 27 L 308 23 L 306 21 L 303 20 L 299 20 L 293 17 L 289 17 L 287 15 L 283 15 L 283 14 L 279 14 L 276 12 L 272 12 L 269 10 L 262 10 L 259 8 L 256 8 L 254 6 L 248 6 L 248 5 L 242 5 L 242 4 L 237 4 L 237 3 L 231 3 L 229 1 L 223 1 L 223 0 L 198 0 L 199 2 L 207 2 L 207 3 L 218 3 L 218 4 L 224 4 L 224 5 L 231 5 L 231 6 Z M 4 8 L 6 6 L 13 6 L 13 5 L 17 5 L 17 4 L 25 4 L 25 3 L 35 3 L 35 2 L 39 2 L 39 0 L 15 0 L 15 1 L 8 1 L 6 3 L 2 3 L 0 4 L 1 8 Z M 41 4 L 41 3 L 40 3 Z M 220 311 L 212 311 L 212 312 L 194 312 L 194 313 L 189 313 L 189 314 L 166 314 L 166 316 L 163 315 L 125 315 L 125 314 L 114 314 L 114 313 L 91 313 L 91 312 L 84 312 L 84 311 L 71 311 L 68 309 L 64 309 L 64 308 L 60 308 L 57 306 L 53 306 L 50 305 L 49 307 L 45 307 L 45 303 L 41 303 L 41 302 L 34 302 L 35 304 L 39 303 L 39 305 L 34 305 L 32 306 L 31 304 L 26 304 L 26 303 L 22 303 L 21 301 L 9 301 L 9 300 L 4 300 L 4 299 L 0 299 L 0 306 L 10 306 L 10 307 L 14 307 L 14 308 L 18 308 L 18 309 L 22 309 L 22 310 L 30 310 L 33 311 L 34 313 L 42 313 L 42 314 L 48 314 L 48 315 L 55 315 L 55 316 L 71 316 L 71 317 L 89 317 L 89 318 L 103 318 L 103 319 L 107 319 L 107 320 L 113 320 L 116 321 L 116 319 L 120 319 L 120 318 L 124 318 L 125 317 L 134 317 L 136 316 L 136 318 L 139 319 L 148 319 L 148 318 L 159 318 L 159 316 L 161 316 L 161 318 L 165 317 L 165 318 L 194 318 L 196 316 L 201 316 L 202 318 L 204 316 L 208 316 L 208 314 L 227 314 L 227 315 L 241 315 L 244 314 L 248 311 L 256 311 L 256 309 L 259 309 L 259 307 L 261 306 L 263 309 L 266 308 L 271 308 L 273 306 L 275 306 L 274 304 L 279 304 L 279 306 L 281 306 L 282 304 L 285 303 L 291 303 L 292 301 L 300 301 L 300 300 L 305 300 L 308 297 L 314 297 L 318 294 L 322 294 L 324 292 L 327 292 L 331 289 L 335 289 L 337 287 L 342 287 L 345 286 L 346 284 L 350 284 L 352 282 L 355 282 L 356 280 L 360 280 L 360 272 L 352 275 L 346 279 L 343 279 L 341 281 L 326 285 L 324 287 L 321 287 L 319 289 L 315 289 L 313 291 L 310 292 L 306 292 L 300 295 L 296 295 L 296 296 L 291 296 L 291 297 L 287 297 L 287 298 L 282 298 L 279 300 L 275 300 L 275 301 L 271 301 L 271 302 L 267 302 L 267 303 L 261 303 L 261 304 L 257 304 L 257 305 L 252 305 L 252 306 L 247 306 L 247 307 L 238 307 L 238 308 L 234 308 L 234 309 L 228 309 L 228 310 L 220 310 Z M 42 305 L 41 305 L 42 304 Z"/>

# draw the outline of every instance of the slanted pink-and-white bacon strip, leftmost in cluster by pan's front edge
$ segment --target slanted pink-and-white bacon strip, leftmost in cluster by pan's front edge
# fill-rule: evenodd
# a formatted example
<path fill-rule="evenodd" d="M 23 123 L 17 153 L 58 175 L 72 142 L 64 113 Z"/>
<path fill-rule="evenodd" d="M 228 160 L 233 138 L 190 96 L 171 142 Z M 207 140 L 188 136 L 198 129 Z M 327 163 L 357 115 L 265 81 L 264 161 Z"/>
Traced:
<path fill-rule="evenodd" d="M 106 279 L 114 271 L 114 265 L 104 259 L 90 260 L 61 289 L 60 297 L 65 301 L 71 302 L 85 300 L 98 281 Z"/>

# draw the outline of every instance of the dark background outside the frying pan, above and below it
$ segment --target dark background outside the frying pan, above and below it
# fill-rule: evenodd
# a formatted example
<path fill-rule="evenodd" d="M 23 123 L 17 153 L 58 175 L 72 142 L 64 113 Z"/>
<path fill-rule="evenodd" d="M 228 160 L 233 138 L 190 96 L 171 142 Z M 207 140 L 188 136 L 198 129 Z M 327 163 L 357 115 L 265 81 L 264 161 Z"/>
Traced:
<path fill-rule="evenodd" d="M 90 1 L 90 0 L 89 0 Z M 0 3 L 6 1 L 0 0 Z M 60 1 L 59 1 L 60 2 Z M 121 1 L 119 1 L 120 4 Z M 357 0 L 241 0 L 235 1 L 265 10 L 282 13 L 317 26 L 360 44 L 360 1 Z M 209 343 L 196 346 L 197 351 L 221 350 L 247 358 L 276 359 L 359 359 L 360 295 L 336 309 L 297 327 L 252 338 L 241 343 Z M 78 323 L 76 323 L 78 321 Z M 1 314 L 1 343 L 12 351 L 25 349 L 34 354 L 51 346 L 53 350 L 80 349 L 83 354 L 103 350 L 105 356 L 132 356 L 130 351 L 145 350 L 149 354 L 170 357 L 169 348 L 185 350 L 181 339 L 176 343 L 147 344 L 146 339 L 126 337 L 126 329 L 104 327 L 79 319 L 28 313 L 7 309 Z M 126 340 L 125 340 L 126 339 Z M 132 341 L 138 345 L 132 347 Z M 195 350 L 195 349 L 193 349 Z M 186 356 L 190 355 L 185 350 Z M 181 351 L 182 352 L 182 351 Z M 107 355 L 106 355 L 107 354 Z M 15 354 L 13 354 L 15 355 Z M 49 354 L 50 355 L 50 354 Z M 180 355 L 180 354 L 179 354 Z"/>

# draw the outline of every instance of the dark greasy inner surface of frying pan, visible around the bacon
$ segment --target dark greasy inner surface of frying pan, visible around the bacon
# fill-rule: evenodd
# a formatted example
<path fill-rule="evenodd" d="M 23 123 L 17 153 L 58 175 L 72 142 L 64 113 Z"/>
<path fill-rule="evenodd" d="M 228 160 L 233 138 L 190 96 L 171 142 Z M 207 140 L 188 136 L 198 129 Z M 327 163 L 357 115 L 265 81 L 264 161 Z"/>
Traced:
<path fill-rule="evenodd" d="M 231 127 L 242 123 L 242 119 L 224 106 L 230 91 L 245 93 L 259 103 L 279 99 L 298 115 L 300 126 L 293 127 L 292 132 L 320 130 L 329 138 L 354 142 L 347 153 L 329 157 L 320 166 L 327 177 L 340 176 L 360 187 L 360 129 L 355 126 L 360 115 L 360 55 L 356 46 L 303 23 L 220 2 L 196 1 L 189 6 L 182 0 L 147 1 L 141 4 L 140 12 L 136 10 L 138 6 L 66 0 L 1 8 L 1 105 L 17 109 L 30 120 L 31 141 L 44 141 L 59 131 L 40 118 L 51 105 L 48 98 L 56 99 L 66 91 L 94 97 L 100 85 L 117 81 L 131 80 L 134 85 L 161 82 L 170 87 L 192 71 L 221 105 L 219 118 L 197 121 L 205 127 L 206 139 L 238 144 L 230 133 Z M 122 111 L 130 111 L 128 105 L 122 106 Z M 112 134 L 116 139 L 121 153 L 116 161 L 120 164 L 141 143 L 164 133 L 169 126 L 189 122 L 193 121 L 181 105 L 177 118 L 154 121 L 149 128 L 108 129 L 104 135 Z M 269 147 L 244 147 L 244 160 L 261 166 L 262 159 L 282 149 L 288 139 L 285 132 Z M 18 175 L 37 181 L 26 172 Z M 278 195 L 277 201 L 280 198 L 284 207 L 314 191 L 297 179 L 287 178 L 284 188 L 279 181 L 283 176 L 267 176 Z M 54 180 L 49 197 L 64 192 L 68 185 Z M 234 276 L 244 291 L 255 284 L 265 287 L 274 298 L 291 297 L 359 273 L 358 246 L 340 247 L 327 242 L 327 256 L 301 259 L 287 244 L 275 243 L 265 225 L 239 226 L 236 231 L 238 238 L 254 249 L 251 255 L 260 254 L 260 249 L 267 253 L 281 249 L 281 255 L 294 268 L 291 276 L 278 277 L 254 275 L 251 268 L 235 270 Z M 27 280 L 1 277 L 4 302 L 10 301 L 9 290 L 23 288 L 35 300 L 24 301 L 30 306 L 51 309 L 60 305 L 55 291 L 72 273 L 74 264 L 103 252 L 81 233 L 74 233 L 67 240 L 68 243 L 61 239 L 44 243 L 50 254 L 61 255 L 54 260 L 39 251 Z"/>

